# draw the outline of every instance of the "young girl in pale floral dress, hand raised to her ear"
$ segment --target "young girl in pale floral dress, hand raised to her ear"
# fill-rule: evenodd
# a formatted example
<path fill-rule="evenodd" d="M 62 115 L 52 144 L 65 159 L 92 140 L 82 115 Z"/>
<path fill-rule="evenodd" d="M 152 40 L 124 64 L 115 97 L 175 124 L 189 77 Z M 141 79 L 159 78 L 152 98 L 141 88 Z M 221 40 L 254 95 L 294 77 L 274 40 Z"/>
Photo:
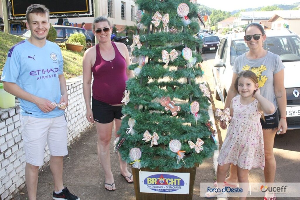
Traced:
<path fill-rule="evenodd" d="M 257 77 L 252 71 L 240 72 L 234 86 L 240 95 L 230 103 L 232 119 L 217 159 L 217 188 L 222 190 L 224 187 L 226 173 L 232 163 L 237 166 L 238 182 L 243 189 L 240 199 L 246 199 L 249 170 L 252 167 L 264 169 L 265 166 L 260 118 L 263 112 L 273 113 L 275 107 L 260 94 Z M 212 198 L 221 193 L 206 193 L 205 197 Z"/>

